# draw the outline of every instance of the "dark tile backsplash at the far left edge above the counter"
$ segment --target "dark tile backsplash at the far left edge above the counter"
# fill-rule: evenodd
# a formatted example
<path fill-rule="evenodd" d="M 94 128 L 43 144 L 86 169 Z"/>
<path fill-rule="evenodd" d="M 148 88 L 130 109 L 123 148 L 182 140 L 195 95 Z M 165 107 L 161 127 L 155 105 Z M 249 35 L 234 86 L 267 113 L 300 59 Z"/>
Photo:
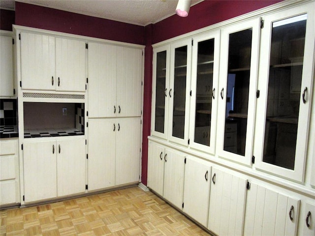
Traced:
<path fill-rule="evenodd" d="M 17 125 L 17 100 L 0 99 L 0 125 Z"/>

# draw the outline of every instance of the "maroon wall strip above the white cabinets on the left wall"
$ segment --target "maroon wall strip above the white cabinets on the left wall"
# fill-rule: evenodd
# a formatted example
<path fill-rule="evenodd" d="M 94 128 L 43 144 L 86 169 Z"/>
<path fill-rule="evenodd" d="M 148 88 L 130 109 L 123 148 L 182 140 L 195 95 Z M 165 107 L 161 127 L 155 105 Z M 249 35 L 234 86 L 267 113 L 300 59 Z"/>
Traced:
<path fill-rule="evenodd" d="M 144 27 L 15 2 L 15 24 L 144 45 Z"/>

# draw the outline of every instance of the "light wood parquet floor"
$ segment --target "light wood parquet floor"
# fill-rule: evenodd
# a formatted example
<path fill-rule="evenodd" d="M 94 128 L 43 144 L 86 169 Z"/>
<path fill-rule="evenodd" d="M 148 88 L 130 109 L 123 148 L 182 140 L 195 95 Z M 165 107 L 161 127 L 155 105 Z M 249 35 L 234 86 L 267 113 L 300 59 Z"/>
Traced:
<path fill-rule="evenodd" d="M 139 187 L 0 211 L 0 236 L 208 236 Z"/>

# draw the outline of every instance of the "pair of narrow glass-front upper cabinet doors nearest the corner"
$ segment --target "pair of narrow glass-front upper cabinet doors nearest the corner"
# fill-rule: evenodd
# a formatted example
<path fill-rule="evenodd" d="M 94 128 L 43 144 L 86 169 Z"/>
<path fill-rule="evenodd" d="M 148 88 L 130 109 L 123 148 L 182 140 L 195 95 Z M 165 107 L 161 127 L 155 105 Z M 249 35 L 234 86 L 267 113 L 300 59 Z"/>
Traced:
<path fill-rule="evenodd" d="M 152 134 L 188 145 L 191 39 L 155 48 Z"/>

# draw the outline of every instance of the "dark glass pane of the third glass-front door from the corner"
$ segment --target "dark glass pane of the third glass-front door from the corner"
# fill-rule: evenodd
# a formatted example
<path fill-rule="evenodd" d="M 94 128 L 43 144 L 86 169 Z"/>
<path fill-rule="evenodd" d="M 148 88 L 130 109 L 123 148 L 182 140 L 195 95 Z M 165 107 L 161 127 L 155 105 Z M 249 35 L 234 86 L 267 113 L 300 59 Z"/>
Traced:
<path fill-rule="evenodd" d="M 194 142 L 210 146 L 214 39 L 198 43 Z"/>

